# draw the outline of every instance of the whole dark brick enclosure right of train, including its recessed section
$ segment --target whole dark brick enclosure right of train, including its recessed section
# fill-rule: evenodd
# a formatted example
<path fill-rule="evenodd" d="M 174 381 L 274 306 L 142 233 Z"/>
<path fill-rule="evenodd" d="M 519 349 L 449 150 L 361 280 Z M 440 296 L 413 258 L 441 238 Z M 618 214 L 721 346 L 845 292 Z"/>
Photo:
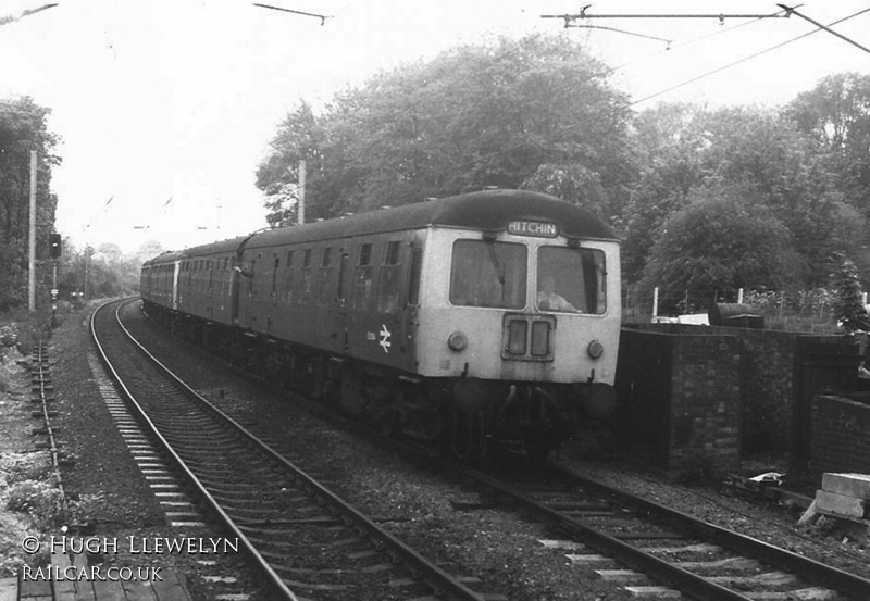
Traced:
<path fill-rule="evenodd" d="M 642 441 L 641 453 L 662 466 L 699 452 L 725 463 L 756 451 L 781 452 L 803 463 L 810 452 L 812 397 L 852 390 L 857 360 L 857 346 L 842 336 L 626 326 L 617 368 L 626 412 L 618 418 L 632 431 L 621 439 L 626 448 Z M 669 375 L 667 384 L 661 371 Z M 650 424 L 667 436 L 652 440 L 644 429 Z"/>

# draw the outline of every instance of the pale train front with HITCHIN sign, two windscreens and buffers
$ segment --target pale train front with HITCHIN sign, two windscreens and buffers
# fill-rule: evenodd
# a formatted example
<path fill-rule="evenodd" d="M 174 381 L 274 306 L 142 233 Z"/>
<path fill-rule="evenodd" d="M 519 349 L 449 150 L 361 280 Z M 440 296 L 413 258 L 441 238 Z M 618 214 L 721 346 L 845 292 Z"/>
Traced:
<path fill-rule="evenodd" d="M 457 234 L 449 252 L 439 365 L 460 371 L 449 386 L 455 454 L 499 442 L 546 456 L 579 424 L 613 412 L 616 240 L 521 220 Z"/>

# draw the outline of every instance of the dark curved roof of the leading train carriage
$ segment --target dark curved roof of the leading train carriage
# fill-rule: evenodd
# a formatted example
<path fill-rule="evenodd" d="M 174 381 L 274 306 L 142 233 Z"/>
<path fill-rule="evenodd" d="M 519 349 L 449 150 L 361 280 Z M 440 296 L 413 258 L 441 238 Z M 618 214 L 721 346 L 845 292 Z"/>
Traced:
<path fill-rule="evenodd" d="M 560 234 L 571 238 L 617 239 L 610 226 L 575 204 L 539 192 L 486 190 L 303 226 L 270 229 L 254 235 L 246 247 L 259 248 L 278 242 L 306 242 L 438 226 L 497 231 L 505 229 L 508 222 L 517 220 L 555 223 Z"/>

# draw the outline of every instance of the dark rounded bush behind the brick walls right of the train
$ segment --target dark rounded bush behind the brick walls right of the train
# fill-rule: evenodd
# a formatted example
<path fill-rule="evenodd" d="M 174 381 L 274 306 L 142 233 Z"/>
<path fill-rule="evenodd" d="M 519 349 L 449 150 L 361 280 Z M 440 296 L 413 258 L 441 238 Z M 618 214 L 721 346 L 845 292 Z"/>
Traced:
<path fill-rule="evenodd" d="M 688 290 L 712 303 L 739 288 L 787 286 L 798 271 L 791 234 L 759 196 L 747 185 L 695 188 L 657 231 L 643 288 L 674 298 Z"/>

